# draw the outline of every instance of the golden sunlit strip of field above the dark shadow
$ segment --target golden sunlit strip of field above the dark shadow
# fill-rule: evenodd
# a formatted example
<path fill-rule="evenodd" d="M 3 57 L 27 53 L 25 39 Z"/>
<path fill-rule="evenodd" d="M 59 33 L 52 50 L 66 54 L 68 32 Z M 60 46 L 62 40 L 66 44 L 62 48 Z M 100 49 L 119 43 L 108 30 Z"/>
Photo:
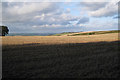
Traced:
<path fill-rule="evenodd" d="M 3 45 L 18 44 L 64 44 L 64 43 L 86 43 L 99 41 L 116 41 L 118 33 L 101 35 L 80 35 L 80 36 L 6 36 L 2 37 Z"/>

